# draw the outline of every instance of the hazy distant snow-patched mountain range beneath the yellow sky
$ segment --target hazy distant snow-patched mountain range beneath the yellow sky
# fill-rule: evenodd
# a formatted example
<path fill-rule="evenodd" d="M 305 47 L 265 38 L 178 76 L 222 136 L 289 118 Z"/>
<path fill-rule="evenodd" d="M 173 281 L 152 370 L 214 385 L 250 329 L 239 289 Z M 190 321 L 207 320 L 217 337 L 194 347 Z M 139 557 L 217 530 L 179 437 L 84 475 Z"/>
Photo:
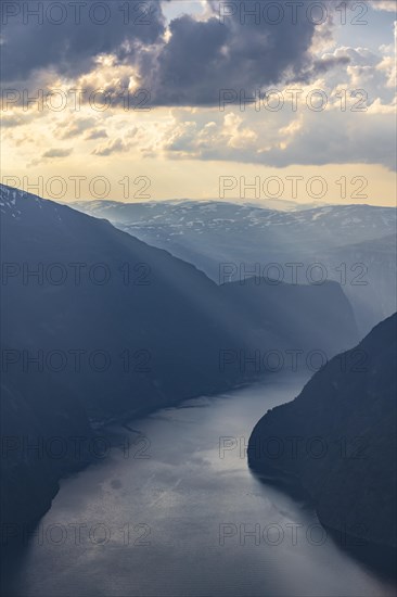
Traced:
<path fill-rule="evenodd" d="M 361 335 L 396 310 L 396 209 L 392 207 L 278 211 L 219 201 L 73 205 L 167 249 L 217 283 L 252 271 L 277 275 L 287 283 L 337 281 L 355 308 Z M 313 265 L 318 263 L 321 267 Z M 232 265 L 226 268 L 225 264 Z"/>

